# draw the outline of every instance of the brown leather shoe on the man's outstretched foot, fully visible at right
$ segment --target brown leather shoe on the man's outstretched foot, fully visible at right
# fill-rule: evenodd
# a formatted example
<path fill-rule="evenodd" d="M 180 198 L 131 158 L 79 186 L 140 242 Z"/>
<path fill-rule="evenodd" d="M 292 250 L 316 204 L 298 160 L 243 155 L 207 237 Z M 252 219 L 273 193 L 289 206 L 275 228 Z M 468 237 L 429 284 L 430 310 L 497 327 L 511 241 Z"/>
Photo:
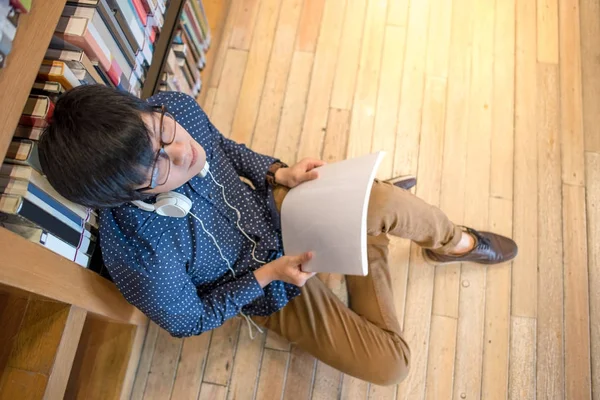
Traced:
<path fill-rule="evenodd" d="M 512 239 L 491 232 L 478 232 L 471 228 L 465 230 L 475 239 L 475 246 L 468 253 L 454 256 L 423 249 L 423 257 L 435 265 L 462 262 L 491 265 L 511 261 L 517 256 L 518 247 Z"/>

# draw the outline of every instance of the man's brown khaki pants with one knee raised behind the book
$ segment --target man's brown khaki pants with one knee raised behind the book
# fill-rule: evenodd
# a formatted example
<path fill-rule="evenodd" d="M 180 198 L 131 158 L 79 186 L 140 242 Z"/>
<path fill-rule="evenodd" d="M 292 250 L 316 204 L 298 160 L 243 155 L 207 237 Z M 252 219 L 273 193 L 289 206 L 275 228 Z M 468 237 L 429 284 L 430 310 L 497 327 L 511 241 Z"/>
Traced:
<path fill-rule="evenodd" d="M 286 193 L 275 190 L 279 209 Z M 373 184 L 367 220 L 369 274 L 346 276 L 349 307 L 312 278 L 283 309 L 252 318 L 343 373 L 392 385 L 408 373 L 410 350 L 394 308 L 387 234 L 444 252 L 458 243 L 461 230 L 439 209 L 380 181 Z"/>

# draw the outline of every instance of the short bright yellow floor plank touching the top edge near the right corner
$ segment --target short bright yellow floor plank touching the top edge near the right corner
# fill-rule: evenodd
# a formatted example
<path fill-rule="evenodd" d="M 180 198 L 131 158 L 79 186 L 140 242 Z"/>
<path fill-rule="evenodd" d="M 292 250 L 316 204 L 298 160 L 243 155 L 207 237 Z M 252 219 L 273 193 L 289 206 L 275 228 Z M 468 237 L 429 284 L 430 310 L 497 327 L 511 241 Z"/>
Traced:
<path fill-rule="evenodd" d="M 558 0 L 537 0 L 537 59 L 558 64 Z"/>

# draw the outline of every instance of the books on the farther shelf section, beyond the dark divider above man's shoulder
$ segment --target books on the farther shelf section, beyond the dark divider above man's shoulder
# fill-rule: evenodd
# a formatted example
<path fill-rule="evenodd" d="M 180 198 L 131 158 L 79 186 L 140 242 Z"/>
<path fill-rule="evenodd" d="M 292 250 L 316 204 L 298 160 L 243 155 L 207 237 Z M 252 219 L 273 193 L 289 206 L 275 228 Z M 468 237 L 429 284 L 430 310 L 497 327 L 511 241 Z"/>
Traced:
<path fill-rule="evenodd" d="M 206 65 L 210 40 L 202 1 L 188 0 L 181 13 L 159 89 L 197 96 L 202 88 L 200 70 Z"/>

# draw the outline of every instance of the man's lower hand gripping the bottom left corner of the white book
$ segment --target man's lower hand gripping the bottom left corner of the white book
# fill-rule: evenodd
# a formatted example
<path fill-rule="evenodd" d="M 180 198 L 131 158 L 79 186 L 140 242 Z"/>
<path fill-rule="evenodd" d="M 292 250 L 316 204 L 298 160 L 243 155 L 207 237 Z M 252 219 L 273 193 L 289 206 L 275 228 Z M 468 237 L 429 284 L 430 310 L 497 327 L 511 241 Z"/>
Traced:
<path fill-rule="evenodd" d="M 316 272 L 302 271 L 302 264 L 311 258 L 310 252 L 299 256 L 283 256 L 254 271 L 254 276 L 262 288 L 272 281 L 283 281 L 302 287 L 316 274 Z"/>

